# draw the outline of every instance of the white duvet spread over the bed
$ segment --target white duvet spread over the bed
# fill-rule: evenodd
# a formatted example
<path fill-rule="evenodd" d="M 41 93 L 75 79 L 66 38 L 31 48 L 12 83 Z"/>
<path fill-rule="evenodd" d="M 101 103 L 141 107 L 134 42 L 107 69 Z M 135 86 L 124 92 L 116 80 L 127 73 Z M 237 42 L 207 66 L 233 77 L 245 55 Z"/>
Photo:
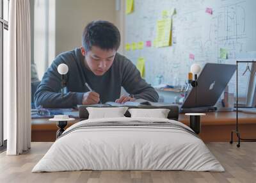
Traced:
<path fill-rule="evenodd" d="M 170 122 L 163 118 L 84 120 L 69 127 L 36 164 L 32 172 L 73 170 L 225 171 L 204 142 L 169 127 L 111 126 L 78 128 L 93 122 Z M 74 130 L 76 129 L 76 130 Z M 189 129 L 191 131 L 191 129 Z"/>

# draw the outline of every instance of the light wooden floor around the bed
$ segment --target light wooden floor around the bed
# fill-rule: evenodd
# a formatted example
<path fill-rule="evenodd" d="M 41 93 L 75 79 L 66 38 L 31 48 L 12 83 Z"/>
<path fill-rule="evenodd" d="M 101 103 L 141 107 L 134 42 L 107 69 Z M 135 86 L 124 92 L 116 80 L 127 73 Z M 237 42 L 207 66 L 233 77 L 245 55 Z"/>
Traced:
<path fill-rule="evenodd" d="M 32 143 L 22 155 L 0 154 L 0 182 L 256 182 L 256 143 L 207 143 L 225 172 L 65 171 L 31 173 L 52 143 Z"/>

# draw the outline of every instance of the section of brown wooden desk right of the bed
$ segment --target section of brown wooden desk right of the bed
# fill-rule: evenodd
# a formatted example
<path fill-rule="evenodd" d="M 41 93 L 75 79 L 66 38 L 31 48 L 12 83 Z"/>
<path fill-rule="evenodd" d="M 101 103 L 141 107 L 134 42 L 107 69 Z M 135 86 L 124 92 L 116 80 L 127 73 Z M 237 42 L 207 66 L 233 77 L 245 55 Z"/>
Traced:
<path fill-rule="evenodd" d="M 241 138 L 256 138 L 256 114 L 238 113 L 238 117 Z M 189 116 L 180 114 L 179 121 L 189 125 Z M 236 112 L 206 113 L 201 123 L 199 135 L 205 142 L 230 141 L 230 132 L 236 129 Z"/>

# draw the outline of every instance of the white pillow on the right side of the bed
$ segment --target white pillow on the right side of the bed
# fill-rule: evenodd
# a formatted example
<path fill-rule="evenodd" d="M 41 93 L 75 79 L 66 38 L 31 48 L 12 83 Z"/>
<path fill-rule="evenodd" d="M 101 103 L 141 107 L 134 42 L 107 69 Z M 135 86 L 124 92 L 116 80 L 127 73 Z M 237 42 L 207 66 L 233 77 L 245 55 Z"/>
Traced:
<path fill-rule="evenodd" d="M 131 113 L 131 118 L 167 118 L 170 109 L 129 109 L 128 111 Z"/>

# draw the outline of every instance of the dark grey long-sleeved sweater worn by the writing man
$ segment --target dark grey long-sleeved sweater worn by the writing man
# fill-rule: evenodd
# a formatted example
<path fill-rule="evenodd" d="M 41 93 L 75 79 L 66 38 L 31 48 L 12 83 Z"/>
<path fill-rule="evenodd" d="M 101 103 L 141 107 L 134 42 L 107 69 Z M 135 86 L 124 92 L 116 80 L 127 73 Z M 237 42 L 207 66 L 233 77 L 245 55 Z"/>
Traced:
<path fill-rule="evenodd" d="M 61 75 L 57 71 L 58 65 L 65 63 L 68 73 L 64 76 L 67 82 L 67 93 L 64 100 L 61 98 Z M 157 102 L 157 92 L 141 78 L 139 70 L 130 60 L 116 53 L 113 65 L 102 76 L 96 76 L 84 65 L 84 56 L 81 49 L 63 52 L 52 62 L 35 92 L 36 107 L 74 107 L 82 104 L 83 93 L 89 89 L 88 83 L 99 93 L 102 103 L 115 101 L 120 97 L 121 86 L 133 94 L 136 99 L 145 99 Z"/>

